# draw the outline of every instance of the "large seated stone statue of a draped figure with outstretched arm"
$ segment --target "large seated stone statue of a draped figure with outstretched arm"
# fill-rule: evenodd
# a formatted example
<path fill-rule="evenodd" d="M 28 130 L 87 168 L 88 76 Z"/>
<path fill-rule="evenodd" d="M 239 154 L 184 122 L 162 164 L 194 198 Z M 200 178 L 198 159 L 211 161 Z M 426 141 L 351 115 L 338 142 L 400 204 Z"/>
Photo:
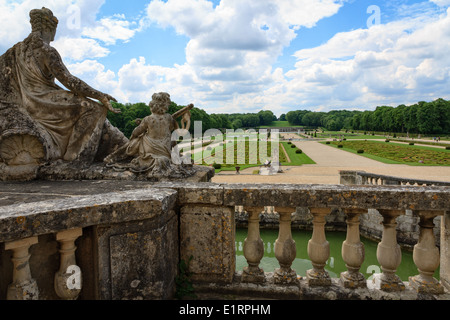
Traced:
<path fill-rule="evenodd" d="M 55 161 L 102 161 L 128 142 L 106 119 L 108 110 L 120 112 L 110 103 L 115 99 L 71 75 L 50 46 L 58 25 L 52 11 L 31 10 L 30 23 L 31 34 L 0 56 L 3 179 L 24 178 Z"/>

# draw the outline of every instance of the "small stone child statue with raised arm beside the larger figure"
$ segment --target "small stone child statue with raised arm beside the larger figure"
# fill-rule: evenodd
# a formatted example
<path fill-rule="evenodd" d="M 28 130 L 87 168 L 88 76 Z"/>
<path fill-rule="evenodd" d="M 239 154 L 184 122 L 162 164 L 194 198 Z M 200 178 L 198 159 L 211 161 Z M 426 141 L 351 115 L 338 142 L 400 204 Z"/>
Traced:
<path fill-rule="evenodd" d="M 186 173 L 188 166 L 180 161 L 174 162 L 179 155 L 173 151 L 172 133 L 179 129 L 177 118 L 186 117 L 194 105 L 190 104 L 175 114 L 167 113 L 171 100 L 165 92 L 155 93 L 149 103 L 151 115 L 140 120 L 139 126 L 131 134 L 130 141 L 105 158 L 108 167 L 131 170 L 150 175 L 178 176 Z"/>

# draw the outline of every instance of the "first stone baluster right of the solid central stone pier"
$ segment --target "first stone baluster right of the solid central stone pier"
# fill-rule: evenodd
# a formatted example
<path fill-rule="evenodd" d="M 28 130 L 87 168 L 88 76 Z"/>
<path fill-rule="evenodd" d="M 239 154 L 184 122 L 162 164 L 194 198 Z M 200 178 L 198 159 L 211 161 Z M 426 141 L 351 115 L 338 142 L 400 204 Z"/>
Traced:
<path fill-rule="evenodd" d="M 264 207 L 247 208 L 248 235 L 244 240 L 244 257 L 248 266 L 242 272 L 242 282 L 265 281 L 264 270 L 259 267 L 264 256 L 264 242 L 259 232 L 259 215 L 263 210 Z"/>

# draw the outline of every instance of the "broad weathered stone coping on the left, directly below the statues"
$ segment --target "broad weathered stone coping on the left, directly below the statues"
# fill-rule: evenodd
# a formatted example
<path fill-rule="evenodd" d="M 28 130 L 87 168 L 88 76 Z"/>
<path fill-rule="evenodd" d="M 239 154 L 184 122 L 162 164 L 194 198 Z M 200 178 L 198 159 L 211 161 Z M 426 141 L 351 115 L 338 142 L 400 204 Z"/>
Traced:
<path fill-rule="evenodd" d="M 20 184 L 14 185 L 21 188 Z M 42 190 L 48 185 L 60 188 L 47 192 Z M 93 225 L 152 219 L 171 210 L 177 199 L 175 190 L 145 187 L 141 183 L 119 184 L 118 187 L 110 182 L 106 185 L 109 188 L 94 190 L 95 187 L 104 187 L 105 183 L 58 182 L 53 185 L 47 182 L 26 184 L 19 193 L 5 192 L 2 184 L 0 195 L 3 198 L 9 195 L 6 202 L 15 203 L 0 206 L 0 242 Z M 27 192 L 31 198 L 27 198 Z M 39 201 L 38 198 L 45 200 Z M 19 203 L 19 199 L 24 202 Z"/>

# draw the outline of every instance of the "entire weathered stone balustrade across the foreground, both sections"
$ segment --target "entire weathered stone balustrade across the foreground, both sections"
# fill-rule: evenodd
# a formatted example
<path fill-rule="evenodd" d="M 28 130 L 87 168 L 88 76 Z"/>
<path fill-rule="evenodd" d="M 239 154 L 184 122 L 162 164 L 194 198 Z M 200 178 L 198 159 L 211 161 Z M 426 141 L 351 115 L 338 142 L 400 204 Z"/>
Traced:
<path fill-rule="evenodd" d="M 104 188 L 104 183 L 98 187 Z M 194 287 L 207 296 L 420 299 L 426 294 L 450 298 L 446 211 L 450 190 L 446 187 L 112 183 L 114 193 L 0 208 L 0 242 L 5 243 L 0 249 L 0 298 L 169 299 L 175 290 L 176 264 L 190 257 Z M 235 270 L 236 206 L 249 213 L 244 270 Z M 268 206 L 280 217 L 275 245 L 279 268 L 274 272 L 259 267 L 264 254 L 259 213 Z M 304 278 L 291 268 L 297 255 L 291 216 L 297 207 L 307 207 L 313 215 L 308 243 L 312 269 Z M 339 279 L 330 278 L 324 268 L 330 255 L 325 217 L 333 208 L 341 208 L 347 217 L 342 257 L 348 271 Z M 359 218 L 372 208 L 383 218 L 377 250 L 382 273 L 367 281 L 359 272 L 365 259 Z M 420 238 L 414 248 L 418 274 L 402 282 L 396 276 L 401 255 L 395 226 L 406 210 L 420 216 Z M 430 232 L 436 216 L 443 217 L 440 252 Z M 19 263 L 27 267 L 18 268 Z M 439 265 L 437 281 L 433 274 Z M 53 277 L 54 281 L 48 281 Z M 62 289 L 56 289 L 55 284 L 61 283 Z M 10 289 L 11 295 L 8 285 L 15 288 Z"/>

